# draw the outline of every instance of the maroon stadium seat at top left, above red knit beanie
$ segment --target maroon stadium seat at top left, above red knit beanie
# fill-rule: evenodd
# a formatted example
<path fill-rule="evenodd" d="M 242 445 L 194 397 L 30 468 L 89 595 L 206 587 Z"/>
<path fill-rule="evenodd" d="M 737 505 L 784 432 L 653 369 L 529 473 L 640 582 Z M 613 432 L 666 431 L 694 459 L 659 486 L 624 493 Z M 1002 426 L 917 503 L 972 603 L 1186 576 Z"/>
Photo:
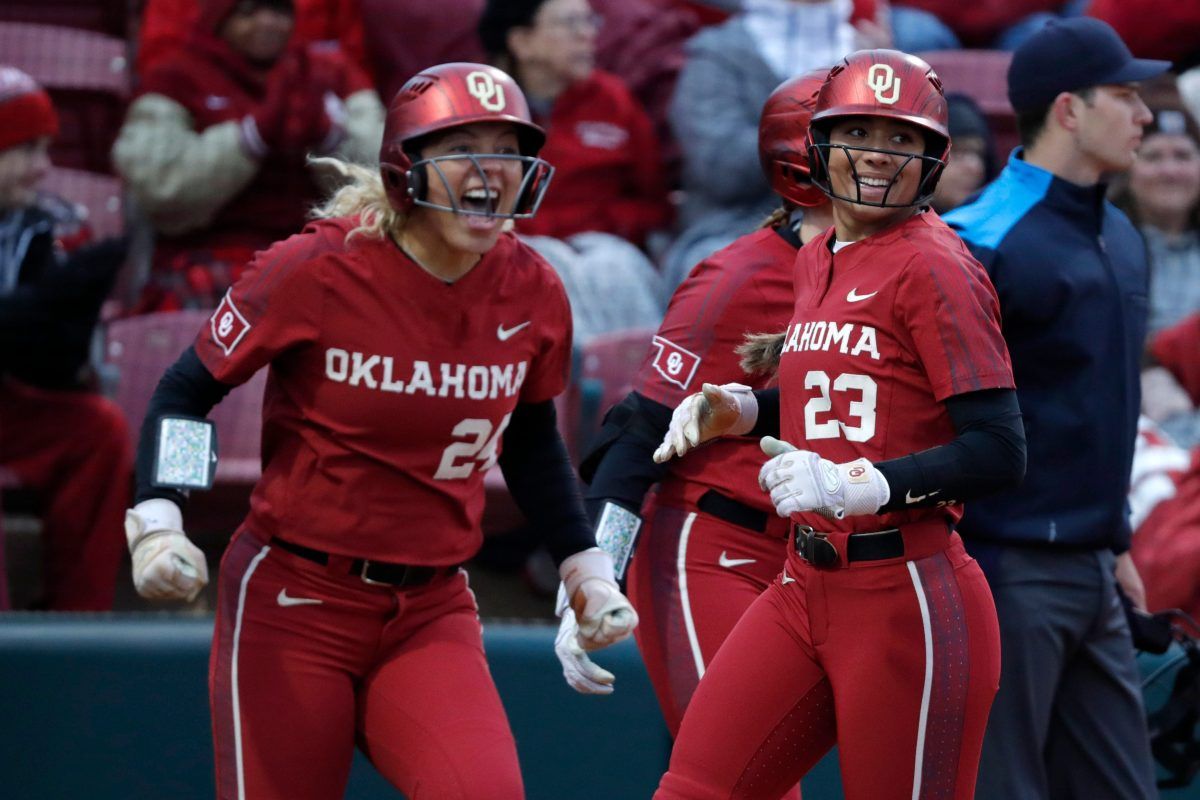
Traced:
<path fill-rule="evenodd" d="M 50 148 L 54 163 L 110 174 L 108 152 L 131 89 L 126 42 L 73 28 L 0 22 L 0 61 L 49 91 L 61 128 Z"/>

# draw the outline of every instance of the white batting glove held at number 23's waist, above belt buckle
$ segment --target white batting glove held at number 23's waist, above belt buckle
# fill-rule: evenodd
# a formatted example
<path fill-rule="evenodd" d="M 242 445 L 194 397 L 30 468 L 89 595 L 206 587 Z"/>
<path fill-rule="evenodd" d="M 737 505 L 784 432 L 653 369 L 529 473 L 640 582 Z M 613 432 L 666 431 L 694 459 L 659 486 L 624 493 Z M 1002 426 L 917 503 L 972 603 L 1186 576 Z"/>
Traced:
<path fill-rule="evenodd" d="M 835 464 L 774 437 L 763 437 L 761 446 L 772 459 L 758 471 L 758 486 L 770 493 L 780 517 L 815 511 L 842 519 L 875 513 L 892 497 L 887 479 L 865 458 Z"/>

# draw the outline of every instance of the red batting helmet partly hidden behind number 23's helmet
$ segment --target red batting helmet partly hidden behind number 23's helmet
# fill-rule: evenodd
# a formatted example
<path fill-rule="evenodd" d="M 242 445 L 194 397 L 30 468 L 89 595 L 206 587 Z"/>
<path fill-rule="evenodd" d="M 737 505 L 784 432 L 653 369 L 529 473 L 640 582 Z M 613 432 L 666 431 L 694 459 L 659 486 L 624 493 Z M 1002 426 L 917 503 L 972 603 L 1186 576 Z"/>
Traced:
<path fill-rule="evenodd" d="M 802 206 L 821 205 L 824 193 L 809 174 L 809 120 L 829 70 L 814 70 L 779 85 L 758 120 L 758 163 L 772 191 Z"/>

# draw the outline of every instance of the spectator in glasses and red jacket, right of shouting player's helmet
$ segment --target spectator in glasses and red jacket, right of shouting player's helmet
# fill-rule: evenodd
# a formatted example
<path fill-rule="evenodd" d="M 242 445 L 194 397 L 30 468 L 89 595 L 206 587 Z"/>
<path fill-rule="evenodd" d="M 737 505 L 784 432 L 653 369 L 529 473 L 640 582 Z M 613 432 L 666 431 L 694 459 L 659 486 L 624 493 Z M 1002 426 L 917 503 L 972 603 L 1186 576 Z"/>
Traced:
<path fill-rule="evenodd" d="M 649 118 L 620 78 L 594 66 L 599 28 L 587 0 L 490 0 L 479 22 L 491 62 L 516 78 L 546 128 L 541 156 L 554 178 L 517 230 L 562 276 L 576 343 L 659 323 L 661 281 L 635 245 L 671 216 Z"/>

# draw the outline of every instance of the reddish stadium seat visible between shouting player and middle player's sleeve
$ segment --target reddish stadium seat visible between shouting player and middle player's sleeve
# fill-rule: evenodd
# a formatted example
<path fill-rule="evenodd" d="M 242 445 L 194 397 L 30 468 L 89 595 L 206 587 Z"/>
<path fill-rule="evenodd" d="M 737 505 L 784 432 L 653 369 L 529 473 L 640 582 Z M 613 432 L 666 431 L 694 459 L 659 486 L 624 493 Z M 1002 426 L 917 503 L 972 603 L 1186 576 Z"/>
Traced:
<path fill-rule="evenodd" d="M 634 377 L 653 337 L 652 329 L 614 331 L 601 333 L 581 348 L 574 383 L 578 392 L 576 435 L 584 451 L 600 429 L 605 413 L 634 387 Z"/>

